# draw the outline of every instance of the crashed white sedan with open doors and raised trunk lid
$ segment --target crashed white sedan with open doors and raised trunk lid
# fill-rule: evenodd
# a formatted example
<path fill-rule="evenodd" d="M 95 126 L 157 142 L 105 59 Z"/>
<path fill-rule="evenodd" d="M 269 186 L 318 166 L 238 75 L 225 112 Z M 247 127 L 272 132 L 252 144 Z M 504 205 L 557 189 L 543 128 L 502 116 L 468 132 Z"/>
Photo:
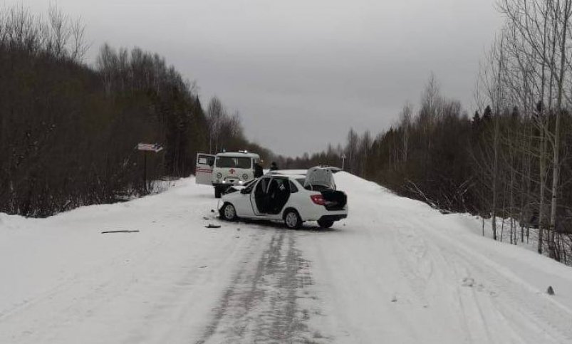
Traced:
<path fill-rule="evenodd" d="M 291 229 L 304 221 L 318 221 L 329 228 L 348 217 L 344 192 L 336 190 L 332 167 L 313 167 L 306 175 L 271 172 L 245 187 L 234 187 L 222 195 L 220 217 L 284 221 Z"/>

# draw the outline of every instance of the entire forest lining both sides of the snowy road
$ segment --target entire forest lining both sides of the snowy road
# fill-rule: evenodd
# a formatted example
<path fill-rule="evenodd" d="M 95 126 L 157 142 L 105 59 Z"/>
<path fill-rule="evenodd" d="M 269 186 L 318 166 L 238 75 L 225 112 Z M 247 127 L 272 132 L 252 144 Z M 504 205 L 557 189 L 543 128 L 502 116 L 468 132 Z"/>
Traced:
<path fill-rule="evenodd" d="M 187 176 L 197 152 L 251 150 L 281 168 L 342 164 L 442 212 L 491 219 L 494 239 L 572 252 L 572 0 L 499 0 L 505 23 L 482 62 L 477 108 L 443 95 L 435 77 L 380 133 L 274 157 L 249 142 L 239 113 L 205 105 L 165 58 L 140 48 L 84 61 L 85 26 L 56 7 L 0 8 L 0 212 L 45 217 L 138 196 Z"/>

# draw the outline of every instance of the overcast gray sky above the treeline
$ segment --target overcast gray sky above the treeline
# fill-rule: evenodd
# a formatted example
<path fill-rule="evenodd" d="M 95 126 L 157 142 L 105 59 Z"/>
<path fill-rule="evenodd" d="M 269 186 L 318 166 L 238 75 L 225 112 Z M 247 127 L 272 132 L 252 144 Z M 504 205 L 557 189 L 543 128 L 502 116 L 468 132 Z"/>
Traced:
<path fill-rule="evenodd" d="M 46 13 L 47 0 L 24 3 Z M 53 1 L 52 1 L 53 2 Z M 0 0 L 1 3 L 1 0 Z M 377 134 L 430 73 L 472 112 L 479 61 L 500 26 L 494 0 L 59 0 L 81 16 L 93 61 L 105 42 L 160 53 L 202 103 L 241 113 L 283 155 Z"/>

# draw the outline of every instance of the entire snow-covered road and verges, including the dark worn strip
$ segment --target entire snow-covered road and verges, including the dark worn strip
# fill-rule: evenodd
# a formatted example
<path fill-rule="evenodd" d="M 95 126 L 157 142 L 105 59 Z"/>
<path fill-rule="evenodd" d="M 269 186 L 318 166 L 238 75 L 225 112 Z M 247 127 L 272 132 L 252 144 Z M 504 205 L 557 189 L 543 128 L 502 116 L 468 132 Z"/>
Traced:
<path fill-rule="evenodd" d="M 572 343 L 571 268 L 479 236 L 469 215 L 336 184 L 350 217 L 328 230 L 219 221 L 192 178 L 0 214 L 0 343 Z"/>

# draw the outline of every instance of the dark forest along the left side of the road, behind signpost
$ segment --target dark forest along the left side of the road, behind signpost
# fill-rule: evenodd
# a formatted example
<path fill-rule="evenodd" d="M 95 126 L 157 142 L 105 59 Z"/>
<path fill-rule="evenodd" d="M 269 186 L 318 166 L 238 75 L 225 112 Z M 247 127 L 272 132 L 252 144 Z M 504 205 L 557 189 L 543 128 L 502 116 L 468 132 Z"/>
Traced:
<path fill-rule="evenodd" d="M 199 151 L 270 154 L 160 55 L 105 44 L 88 66 L 87 49 L 82 22 L 54 6 L 0 7 L 0 212 L 45 217 L 152 190 L 139 142 L 164 147 L 147 153 L 151 181 L 188 176 Z"/>

